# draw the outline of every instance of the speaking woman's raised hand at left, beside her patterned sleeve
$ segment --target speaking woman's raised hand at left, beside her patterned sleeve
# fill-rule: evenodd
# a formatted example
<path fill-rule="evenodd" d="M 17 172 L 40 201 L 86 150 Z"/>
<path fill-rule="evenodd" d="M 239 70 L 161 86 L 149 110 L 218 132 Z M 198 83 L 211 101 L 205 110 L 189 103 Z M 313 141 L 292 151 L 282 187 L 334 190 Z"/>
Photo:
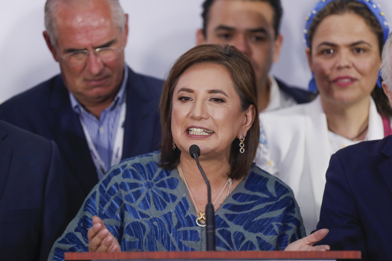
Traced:
<path fill-rule="evenodd" d="M 89 252 L 121 252 L 117 239 L 97 216 L 93 216 L 93 227 L 87 232 L 87 238 L 89 239 Z"/>

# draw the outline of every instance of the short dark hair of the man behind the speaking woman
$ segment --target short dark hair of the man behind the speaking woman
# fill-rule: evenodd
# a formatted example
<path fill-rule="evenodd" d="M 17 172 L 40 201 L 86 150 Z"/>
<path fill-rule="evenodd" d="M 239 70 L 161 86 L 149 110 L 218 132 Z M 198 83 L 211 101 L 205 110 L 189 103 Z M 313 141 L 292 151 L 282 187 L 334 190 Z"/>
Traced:
<path fill-rule="evenodd" d="M 211 5 L 214 3 L 215 0 L 205 0 L 201 7 L 203 8 L 203 12 L 201 13 L 201 18 L 203 18 L 203 35 L 204 37 L 207 36 L 207 24 L 209 21 L 209 14 Z M 245 1 L 245 0 L 241 0 Z M 261 1 L 267 2 L 272 6 L 274 9 L 274 16 L 273 16 L 273 26 L 275 31 L 275 38 L 278 37 L 280 22 L 282 20 L 283 8 L 280 0 L 246 0 L 246 1 Z"/>

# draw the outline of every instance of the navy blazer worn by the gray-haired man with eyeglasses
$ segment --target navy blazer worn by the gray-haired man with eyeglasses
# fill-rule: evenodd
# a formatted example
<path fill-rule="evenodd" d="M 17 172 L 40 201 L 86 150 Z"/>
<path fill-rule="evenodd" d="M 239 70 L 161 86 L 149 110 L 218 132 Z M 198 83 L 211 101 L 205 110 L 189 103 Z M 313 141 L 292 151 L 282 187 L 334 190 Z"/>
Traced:
<path fill-rule="evenodd" d="M 122 159 L 157 150 L 162 135 L 158 109 L 162 80 L 127 69 Z M 56 142 L 65 167 L 71 221 L 98 183 L 98 174 L 61 75 L 5 101 L 0 119 Z"/>

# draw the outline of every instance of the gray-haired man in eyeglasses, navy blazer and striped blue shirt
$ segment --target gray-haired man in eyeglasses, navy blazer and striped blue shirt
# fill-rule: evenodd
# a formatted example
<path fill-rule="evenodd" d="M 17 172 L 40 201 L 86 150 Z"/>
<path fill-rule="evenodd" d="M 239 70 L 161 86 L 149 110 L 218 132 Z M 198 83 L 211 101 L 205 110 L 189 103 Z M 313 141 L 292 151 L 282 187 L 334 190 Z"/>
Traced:
<path fill-rule="evenodd" d="M 68 220 L 111 166 L 158 149 L 162 80 L 124 65 L 127 22 L 118 0 L 47 0 L 44 38 L 61 74 L 0 105 L 0 118 L 57 143 Z"/>

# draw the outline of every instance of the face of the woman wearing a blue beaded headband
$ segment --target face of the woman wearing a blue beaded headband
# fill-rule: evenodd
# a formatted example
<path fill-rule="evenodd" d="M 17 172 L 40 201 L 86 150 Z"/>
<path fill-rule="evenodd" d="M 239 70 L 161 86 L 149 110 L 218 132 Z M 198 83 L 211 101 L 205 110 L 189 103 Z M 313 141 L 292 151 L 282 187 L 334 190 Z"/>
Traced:
<path fill-rule="evenodd" d="M 321 100 L 351 105 L 370 97 L 376 86 L 381 57 L 376 34 L 353 13 L 330 15 L 316 29 L 310 69 Z"/>

